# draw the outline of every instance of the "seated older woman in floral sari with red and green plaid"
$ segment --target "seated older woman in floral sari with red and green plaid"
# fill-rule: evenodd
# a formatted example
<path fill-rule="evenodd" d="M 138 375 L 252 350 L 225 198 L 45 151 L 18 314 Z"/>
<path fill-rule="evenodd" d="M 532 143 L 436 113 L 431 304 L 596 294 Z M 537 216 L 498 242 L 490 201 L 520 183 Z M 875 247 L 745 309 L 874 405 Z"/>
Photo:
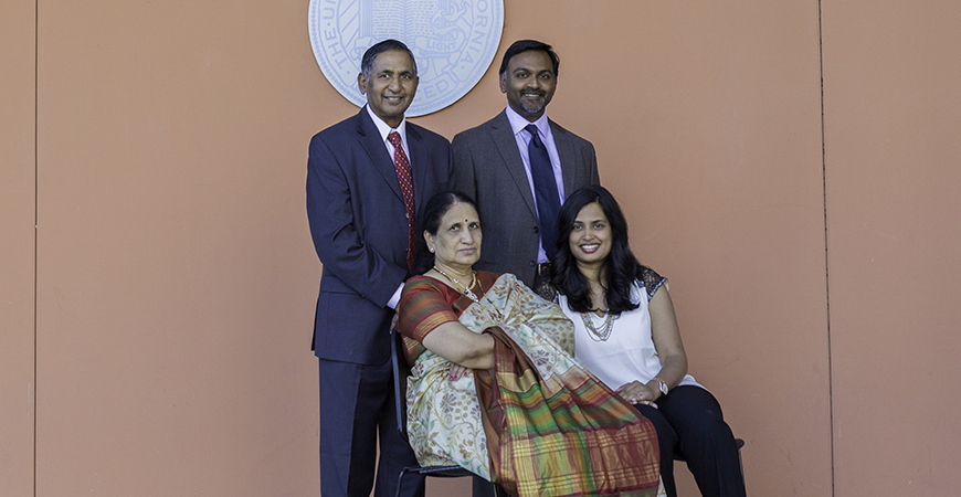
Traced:
<path fill-rule="evenodd" d="M 408 435 L 422 465 L 461 465 L 510 495 L 654 496 L 650 422 L 571 357 L 560 308 L 475 272 L 480 220 L 460 193 L 424 210 L 423 276 L 401 296 Z"/>

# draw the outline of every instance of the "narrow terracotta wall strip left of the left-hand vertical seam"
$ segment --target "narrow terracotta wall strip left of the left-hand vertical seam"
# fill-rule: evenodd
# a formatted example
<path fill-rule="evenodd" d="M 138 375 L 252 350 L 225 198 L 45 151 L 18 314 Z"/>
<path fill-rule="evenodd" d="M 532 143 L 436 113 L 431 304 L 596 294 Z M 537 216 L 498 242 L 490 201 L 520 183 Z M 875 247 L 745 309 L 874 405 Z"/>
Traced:
<path fill-rule="evenodd" d="M 0 3 L 0 494 L 33 493 L 35 2 Z"/>

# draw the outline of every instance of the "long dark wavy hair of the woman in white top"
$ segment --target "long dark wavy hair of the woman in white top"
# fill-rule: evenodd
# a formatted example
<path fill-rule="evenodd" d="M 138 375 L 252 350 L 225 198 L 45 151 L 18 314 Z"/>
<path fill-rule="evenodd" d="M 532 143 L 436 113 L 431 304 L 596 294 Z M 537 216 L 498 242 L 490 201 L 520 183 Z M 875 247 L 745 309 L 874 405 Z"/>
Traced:
<path fill-rule="evenodd" d="M 558 213 L 557 253 L 551 261 L 551 284 L 568 297 L 568 305 L 578 313 L 590 311 L 591 289 L 588 278 L 578 268 L 568 239 L 578 213 L 585 205 L 599 203 L 611 226 L 611 253 L 601 266 L 601 286 L 604 287 L 608 309 L 612 314 L 634 310 L 637 304 L 631 300 L 631 287 L 641 277 L 641 263 L 627 243 L 627 221 L 614 195 L 603 187 L 584 187 L 564 201 Z"/>

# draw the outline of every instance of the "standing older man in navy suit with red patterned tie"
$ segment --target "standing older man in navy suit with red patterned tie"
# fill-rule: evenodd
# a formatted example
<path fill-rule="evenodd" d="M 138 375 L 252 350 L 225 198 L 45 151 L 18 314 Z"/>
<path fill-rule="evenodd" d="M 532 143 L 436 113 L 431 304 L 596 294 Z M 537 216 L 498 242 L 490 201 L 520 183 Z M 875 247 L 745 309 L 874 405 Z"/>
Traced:
<path fill-rule="evenodd" d="M 307 216 L 324 264 L 314 325 L 320 374 L 320 490 L 393 496 L 416 465 L 394 420 L 389 327 L 416 246 L 416 213 L 448 190 L 447 140 L 408 123 L 416 63 L 395 40 L 371 46 L 357 77 L 367 105 L 310 140 Z M 410 478 L 402 495 L 423 496 Z M 406 482 L 405 482 L 406 486 Z"/>

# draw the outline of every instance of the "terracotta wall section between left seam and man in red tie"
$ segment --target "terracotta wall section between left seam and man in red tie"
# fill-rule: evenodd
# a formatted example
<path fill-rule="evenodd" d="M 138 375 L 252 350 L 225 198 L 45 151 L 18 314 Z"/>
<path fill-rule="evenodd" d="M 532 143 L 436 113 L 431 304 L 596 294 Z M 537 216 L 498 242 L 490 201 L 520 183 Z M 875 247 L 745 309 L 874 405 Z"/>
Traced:
<path fill-rule="evenodd" d="M 318 486 L 305 20 L 40 3 L 38 496 Z"/>

